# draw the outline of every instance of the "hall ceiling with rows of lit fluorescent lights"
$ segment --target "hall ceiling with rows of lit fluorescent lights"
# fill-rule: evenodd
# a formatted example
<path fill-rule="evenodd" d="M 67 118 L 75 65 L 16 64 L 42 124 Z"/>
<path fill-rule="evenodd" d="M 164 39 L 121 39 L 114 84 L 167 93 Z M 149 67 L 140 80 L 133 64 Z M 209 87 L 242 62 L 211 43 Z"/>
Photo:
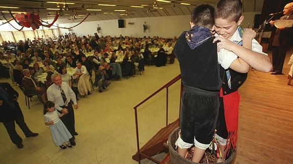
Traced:
<path fill-rule="evenodd" d="M 158 7 L 163 9 L 153 9 L 152 5 L 155 0 L 79 0 L 79 1 L 65 1 L 65 0 L 48 0 L 53 2 L 67 2 L 75 3 L 74 5 L 68 5 L 69 11 L 65 11 L 65 15 L 59 17 L 57 23 L 72 23 L 80 22 L 85 16 L 78 16 L 76 20 L 69 20 L 74 12 L 77 14 L 87 14 L 90 16 L 86 21 L 97 20 L 110 20 L 110 19 L 127 19 L 127 18 L 139 18 L 139 17 L 158 17 L 158 16 L 174 16 L 174 15 L 190 15 L 192 9 L 199 4 L 208 3 L 215 6 L 218 0 L 169 0 L 171 3 L 156 2 Z M 11 11 L 25 11 L 31 13 L 39 13 L 42 20 L 51 20 L 53 17 L 48 15 L 55 15 L 55 10 L 46 10 L 47 8 L 57 8 L 57 4 L 49 4 L 44 0 L 0 0 L 0 6 L 7 7 L 19 7 L 19 9 L 11 9 Z M 261 11 L 263 0 L 244 0 L 244 12 Z M 181 5 L 180 3 L 188 3 L 191 5 Z M 117 5 L 115 7 L 98 6 L 98 4 L 112 4 Z M 62 4 L 59 4 L 63 7 Z M 130 6 L 149 5 L 144 8 L 132 8 Z M 101 9 L 102 11 L 87 11 L 86 9 Z M 9 8 L 0 8 L 0 11 L 8 11 Z M 114 10 L 127 10 L 127 12 L 115 12 Z M 103 14 L 103 13 L 112 14 Z M 122 16 L 120 14 L 126 14 Z M 6 18 L 10 19 L 9 13 L 5 13 Z M 0 15 L 3 19 L 3 16 Z"/>

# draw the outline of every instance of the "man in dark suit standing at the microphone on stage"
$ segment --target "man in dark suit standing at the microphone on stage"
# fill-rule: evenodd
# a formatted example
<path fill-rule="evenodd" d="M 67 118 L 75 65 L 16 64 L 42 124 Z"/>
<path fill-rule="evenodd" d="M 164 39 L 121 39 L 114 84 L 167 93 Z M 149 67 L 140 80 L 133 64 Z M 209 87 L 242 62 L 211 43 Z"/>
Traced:
<path fill-rule="evenodd" d="M 283 10 L 284 16 L 280 20 L 293 19 L 293 2 L 287 4 Z M 270 21 L 273 26 L 275 21 Z M 286 52 L 288 47 L 293 42 L 293 27 L 277 28 L 275 38 L 273 41 L 273 73 L 272 75 L 281 75 L 283 70 L 283 65 L 286 57 Z"/>

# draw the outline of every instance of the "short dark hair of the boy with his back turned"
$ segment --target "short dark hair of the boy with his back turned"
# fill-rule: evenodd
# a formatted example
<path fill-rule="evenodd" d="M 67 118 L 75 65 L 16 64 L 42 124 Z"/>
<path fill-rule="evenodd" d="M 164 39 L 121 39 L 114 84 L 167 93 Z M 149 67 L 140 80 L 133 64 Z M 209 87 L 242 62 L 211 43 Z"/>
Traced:
<path fill-rule="evenodd" d="M 195 7 L 191 13 L 191 21 L 194 25 L 211 28 L 215 24 L 215 8 L 208 4 Z"/>

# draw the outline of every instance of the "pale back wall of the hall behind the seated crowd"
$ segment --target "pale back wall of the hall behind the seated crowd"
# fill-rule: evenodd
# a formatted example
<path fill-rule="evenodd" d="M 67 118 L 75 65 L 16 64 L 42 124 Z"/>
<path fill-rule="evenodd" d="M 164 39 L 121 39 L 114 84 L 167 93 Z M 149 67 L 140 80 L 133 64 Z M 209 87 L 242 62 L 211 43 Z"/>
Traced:
<path fill-rule="evenodd" d="M 147 18 L 130 18 L 125 19 L 124 27 L 118 28 L 118 20 L 103 20 L 83 22 L 82 24 L 72 28 L 77 36 L 93 35 L 97 32 L 96 28 L 99 24 L 101 27 L 100 36 L 110 35 L 116 36 L 130 36 L 130 37 L 144 37 L 144 36 L 159 36 L 164 38 L 173 38 L 179 36 L 183 30 L 190 28 L 190 15 L 186 16 L 166 16 L 166 17 L 147 17 Z M 128 22 L 134 22 L 134 25 L 128 25 Z M 143 31 L 143 24 L 149 26 L 146 32 Z M 77 23 L 59 24 L 61 27 L 70 27 Z M 68 33 L 68 29 L 61 29 L 60 33 Z"/>

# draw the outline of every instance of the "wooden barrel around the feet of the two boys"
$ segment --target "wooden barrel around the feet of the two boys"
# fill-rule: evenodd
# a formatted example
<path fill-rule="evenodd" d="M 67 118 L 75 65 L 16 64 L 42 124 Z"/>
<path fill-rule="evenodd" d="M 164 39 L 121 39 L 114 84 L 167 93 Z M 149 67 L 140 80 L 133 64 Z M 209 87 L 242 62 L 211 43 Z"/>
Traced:
<path fill-rule="evenodd" d="M 173 132 L 169 135 L 168 138 L 168 148 L 169 148 L 169 153 L 170 153 L 170 159 L 171 159 L 171 163 L 173 164 L 178 164 L 178 163 L 182 163 L 182 164 L 194 164 L 196 162 L 193 162 L 191 160 L 188 160 L 186 158 L 183 158 L 182 156 L 180 156 L 177 151 L 175 150 L 175 142 L 178 139 L 178 132 L 179 132 L 179 127 L 177 127 L 175 130 L 173 130 Z M 231 156 L 225 160 L 224 162 L 220 162 L 220 163 L 226 163 L 226 164 L 232 164 L 235 158 L 235 151 L 231 154 Z"/>

